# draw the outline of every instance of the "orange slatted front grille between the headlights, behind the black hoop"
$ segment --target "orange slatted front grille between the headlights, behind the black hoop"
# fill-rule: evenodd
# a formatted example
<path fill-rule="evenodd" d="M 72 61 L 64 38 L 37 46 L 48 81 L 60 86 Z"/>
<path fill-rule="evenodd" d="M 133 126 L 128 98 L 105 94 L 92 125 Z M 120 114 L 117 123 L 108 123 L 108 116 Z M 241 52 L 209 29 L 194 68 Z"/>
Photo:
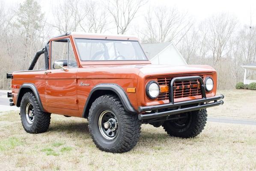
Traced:
<path fill-rule="evenodd" d="M 199 77 L 201 77 L 203 79 L 203 75 L 200 75 Z M 169 86 L 170 81 L 173 78 L 174 77 L 158 78 L 157 82 L 159 85 L 168 85 Z M 169 90 L 170 90 L 170 88 L 169 88 Z M 200 83 L 198 80 L 176 81 L 173 85 L 173 90 L 174 90 L 174 92 L 173 92 L 174 99 L 202 95 L 201 89 L 200 89 Z M 169 92 L 160 93 L 157 99 L 158 100 L 169 100 Z"/>

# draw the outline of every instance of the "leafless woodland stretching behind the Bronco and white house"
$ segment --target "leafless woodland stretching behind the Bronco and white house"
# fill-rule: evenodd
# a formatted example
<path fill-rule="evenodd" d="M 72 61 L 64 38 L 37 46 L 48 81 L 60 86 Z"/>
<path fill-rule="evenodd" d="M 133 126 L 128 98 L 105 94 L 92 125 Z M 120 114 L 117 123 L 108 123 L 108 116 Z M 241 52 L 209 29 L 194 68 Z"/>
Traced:
<path fill-rule="evenodd" d="M 198 22 L 175 7 L 145 9 L 147 0 L 60 0 L 47 13 L 41 3 L 6 6 L 0 0 L 0 89 L 10 88 L 6 73 L 27 70 L 49 38 L 70 31 L 133 34 L 141 43 L 173 41 L 188 64 L 217 70 L 220 89 L 243 80 L 240 65 L 256 63 L 256 26 L 228 13 Z M 247 76 L 256 80 L 252 72 Z"/>

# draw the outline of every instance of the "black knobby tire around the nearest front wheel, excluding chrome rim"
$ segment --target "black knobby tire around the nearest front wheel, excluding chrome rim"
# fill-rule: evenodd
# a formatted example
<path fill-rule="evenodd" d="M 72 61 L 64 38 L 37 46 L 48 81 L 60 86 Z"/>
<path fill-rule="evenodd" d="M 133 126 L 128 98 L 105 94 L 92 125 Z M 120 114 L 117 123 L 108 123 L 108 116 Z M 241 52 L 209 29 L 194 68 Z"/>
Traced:
<path fill-rule="evenodd" d="M 100 133 L 98 119 L 101 112 L 109 110 L 116 115 L 118 132 L 116 137 L 108 140 Z M 123 153 L 131 150 L 140 137 L 141 122 L 137 115 L 125 111 L 119 97 L 115 95 L 103 95 L 98 97 L 89 110 L 89 133 L 95 145 L 103 151 Z"/>

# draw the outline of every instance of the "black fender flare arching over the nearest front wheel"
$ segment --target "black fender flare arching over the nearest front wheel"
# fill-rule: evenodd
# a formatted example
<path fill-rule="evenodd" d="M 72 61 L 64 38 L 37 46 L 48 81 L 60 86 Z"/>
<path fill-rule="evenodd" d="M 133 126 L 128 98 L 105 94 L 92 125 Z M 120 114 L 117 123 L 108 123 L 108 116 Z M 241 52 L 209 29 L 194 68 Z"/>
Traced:
<path fill-rule="evenodd" d="M 83 118 L 86 118 L 86 111 L 89 111 L 89 110 L 87 110 L 87 108 L 89 107 L 90 99 L 92 97 L 92 94 L 97 90 L 113 91 L 114 93 L 117 94 L 117 96 L 121 100 L 122 105 L 124 106 L 124 108 L 127 112 L 129 112 L 129 113 L 138 113 L 134 109 L 134 107 L 131 105 L 131 102 L 130 102 L 129 98 L 128 98 L 127 94 L 125 93 L 125 91 L 123 90 L 122 87 L 120 87 L 119 85 L 114 84 L 114 83 L 111 83 L 111 84 L 110 83 L 102 83 L 102 84 L 95 85 L 95 87 L 93 87 L 91 92 L 89 93 L 88 98 L 87 98 L 86 103 L 85 103 L 85 106 L 83 108 Z"/>

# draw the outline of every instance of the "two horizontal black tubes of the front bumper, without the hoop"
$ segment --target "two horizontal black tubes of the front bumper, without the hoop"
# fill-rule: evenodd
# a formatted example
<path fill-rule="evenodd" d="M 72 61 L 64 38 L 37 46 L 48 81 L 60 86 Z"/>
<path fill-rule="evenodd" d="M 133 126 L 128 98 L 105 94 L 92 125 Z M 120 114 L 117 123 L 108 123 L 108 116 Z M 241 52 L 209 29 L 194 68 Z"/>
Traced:
<path fill-rule="evenodd" d="M 182 112 L 189 112 L 189 111 L 193 111 L 193 110 L 200 110 L 200 109 L 205 109 L 208 107 L 219 106 L 219 105 L 223 104 L 223 101 L 220 100 L 223 98 L 224 98 L 224 96 L 221 94 L 221 95 L 214 96 L 214 97 L 189 100 L 189 101 L 184 101 L 184 102 L 168 103 L 168 104 L 161 104 L 161 105 L 155 105 L 155 106 L 140 106 L 138 108 L 139 112 L 152 111 L 152 110 L 156 110 L 156 109 L 173 108 L 173 107 L 178 107 L 178 109 L 168 110 L 165 112 L 144 114 L 144 115 L 139 114 L 138 118 L 140 120 L 152 119 L 152 118 L 158 118 L 158 117 L 167 116 L 167 115 L 175 115 L 175 114 L 179 114 Z M 217 101 L 217 100 L 220 100 L 220 101 Z M 214 102 L 213 103 L 205 103 L 205 102 L 210 102 L 210 101 L 214 101 Z M 205 104 L 201 104 L 201 103 L 205 103 Z M 191 105 L 191 104 L 197 104 L 197 106 L 181 108 L 181 106 Z"/>

